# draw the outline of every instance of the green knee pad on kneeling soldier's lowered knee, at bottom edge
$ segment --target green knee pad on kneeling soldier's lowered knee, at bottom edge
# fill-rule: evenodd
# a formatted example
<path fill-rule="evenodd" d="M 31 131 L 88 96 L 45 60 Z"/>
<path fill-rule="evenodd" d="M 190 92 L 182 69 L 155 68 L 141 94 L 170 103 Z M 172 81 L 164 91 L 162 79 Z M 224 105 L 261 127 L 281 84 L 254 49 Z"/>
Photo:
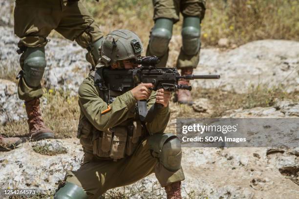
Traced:
<path fill-rule="evenodd" d="M 58 189 L 54 199 L 87 199 L 85 191 L 76 184 L 65 182 L 64 186 Z"/>

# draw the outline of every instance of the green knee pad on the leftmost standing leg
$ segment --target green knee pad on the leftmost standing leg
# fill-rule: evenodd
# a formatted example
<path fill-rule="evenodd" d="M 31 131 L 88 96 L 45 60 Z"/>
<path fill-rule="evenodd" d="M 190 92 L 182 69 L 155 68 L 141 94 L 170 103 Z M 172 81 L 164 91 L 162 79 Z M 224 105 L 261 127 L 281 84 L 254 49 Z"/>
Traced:
<path fill-rule="evenodd" d="M 41 84 L 45 67 L 44 47 L 27 47 L 24 52 L 23 78 L 29 86 L 37 87 Z"/>

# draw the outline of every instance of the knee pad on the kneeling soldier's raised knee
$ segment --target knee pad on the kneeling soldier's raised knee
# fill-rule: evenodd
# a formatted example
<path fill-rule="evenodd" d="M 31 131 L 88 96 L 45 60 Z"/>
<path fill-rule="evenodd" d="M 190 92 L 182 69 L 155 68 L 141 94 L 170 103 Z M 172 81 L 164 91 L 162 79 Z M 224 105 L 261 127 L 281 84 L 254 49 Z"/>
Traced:
<path fill-rule="evenodd" d="M 182 147 L 180 140 L 173 134 L 154 134 L 149 137 L 149 148 L 154 158 L 169 171 L 181 168 Z"/>

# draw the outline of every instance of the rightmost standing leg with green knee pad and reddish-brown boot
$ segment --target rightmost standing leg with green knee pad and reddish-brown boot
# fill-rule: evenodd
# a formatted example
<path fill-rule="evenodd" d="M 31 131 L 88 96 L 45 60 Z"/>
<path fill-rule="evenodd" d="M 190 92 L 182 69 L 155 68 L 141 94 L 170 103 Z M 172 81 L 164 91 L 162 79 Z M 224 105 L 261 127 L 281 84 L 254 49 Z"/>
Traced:
<path fill-rule="evenodd" d="M 184 16 L 182 27 L 182 48 L 176 67 L 181 69 L 181 75 L 191 75 L 199 62 L 200 51 L 200 21 L 205 13 L 205 0 L 182 0 L 180 6 Z M 189 80 L 180 80 L 179 84 L 190 85 Z M 177 91 L 179 103 L 192 104 L 191 92 Z"/>

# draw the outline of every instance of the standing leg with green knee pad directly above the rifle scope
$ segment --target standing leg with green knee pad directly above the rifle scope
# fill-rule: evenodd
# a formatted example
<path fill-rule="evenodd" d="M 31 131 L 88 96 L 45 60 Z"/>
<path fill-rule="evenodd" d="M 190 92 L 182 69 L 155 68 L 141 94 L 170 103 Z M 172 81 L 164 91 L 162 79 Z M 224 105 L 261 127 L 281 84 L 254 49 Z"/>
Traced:
<path fill-rule="evenodd" d="M 155 21 L 154 27 L 151 29 L 149 37 L 149 45 L 147 48 L 147 56 L 159 57 L 160 63 L 158 67 L 165 67 L 168 54 L 169 42 L 172 36 L 172 26 L 179 20 L 179 3 L 180 0 L 153 0 Z"/>

